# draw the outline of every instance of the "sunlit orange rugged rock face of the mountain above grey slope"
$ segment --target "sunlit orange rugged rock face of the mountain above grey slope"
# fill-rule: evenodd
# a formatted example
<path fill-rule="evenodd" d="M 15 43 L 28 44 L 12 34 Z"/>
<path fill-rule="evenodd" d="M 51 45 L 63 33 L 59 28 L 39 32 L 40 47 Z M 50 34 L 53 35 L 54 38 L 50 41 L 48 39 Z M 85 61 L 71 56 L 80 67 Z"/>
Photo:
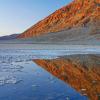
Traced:
<path fill-rule="evenodd" d="M 72 27 L 93 25 L 93 33 L 99 33 L 100 27 L 100 0 L 74 0 L 67 6 L 55 11 L 41 20 L 18 38 L 29 38 L 45 33 L 58 32 Z M 96 25 L 95 25 L 96 24 Z"/>

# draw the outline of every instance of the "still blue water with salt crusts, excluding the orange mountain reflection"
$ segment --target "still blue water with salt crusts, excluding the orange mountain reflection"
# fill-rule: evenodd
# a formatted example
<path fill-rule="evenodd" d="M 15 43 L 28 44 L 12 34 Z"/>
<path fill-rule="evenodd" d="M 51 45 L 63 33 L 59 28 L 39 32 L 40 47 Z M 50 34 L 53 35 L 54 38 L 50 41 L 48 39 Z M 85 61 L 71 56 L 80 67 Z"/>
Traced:
<path fill-rule="evenodd" d="M 0 100 L 88 100 L 32 61 L 65 54 L 64 50 L 0 50 Z"/>

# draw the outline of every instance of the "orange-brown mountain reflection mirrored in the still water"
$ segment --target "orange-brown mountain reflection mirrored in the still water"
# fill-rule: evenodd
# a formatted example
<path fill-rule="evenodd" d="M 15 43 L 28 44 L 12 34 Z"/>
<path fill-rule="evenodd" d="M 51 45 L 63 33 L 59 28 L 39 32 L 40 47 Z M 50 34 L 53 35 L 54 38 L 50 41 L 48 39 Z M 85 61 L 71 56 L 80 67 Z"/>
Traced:
<path fill-rule="evenodd" d="M 100 55 L 73 55 L 34 62 L 90 100 L 100 99 Z"/>

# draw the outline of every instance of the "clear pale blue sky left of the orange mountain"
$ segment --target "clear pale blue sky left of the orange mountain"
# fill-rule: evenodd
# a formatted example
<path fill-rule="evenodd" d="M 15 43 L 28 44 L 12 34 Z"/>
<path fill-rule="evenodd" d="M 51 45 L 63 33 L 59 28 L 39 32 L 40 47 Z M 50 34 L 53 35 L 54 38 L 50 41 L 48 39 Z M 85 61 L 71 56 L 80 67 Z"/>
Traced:
<path fill-rule="evenodd" d="M 22 33 L 72 0 L 0 0 L 0 36 Z"/>

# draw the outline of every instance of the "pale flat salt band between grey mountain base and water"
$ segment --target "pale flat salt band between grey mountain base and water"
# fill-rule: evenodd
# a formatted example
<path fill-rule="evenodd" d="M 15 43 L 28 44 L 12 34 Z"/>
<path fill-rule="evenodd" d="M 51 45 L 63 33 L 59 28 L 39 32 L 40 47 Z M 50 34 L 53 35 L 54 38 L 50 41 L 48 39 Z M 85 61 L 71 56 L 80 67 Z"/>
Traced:
<path fill-rule="evenodd" d="M 99 45 L 65 45 L 65 44 L 0 44 L 0 50 L 5 49 L 24 49 L 24 50 L 40 50 L 39 52 L 57 52 L 59 50 L 68 53 L 77 54 L 100 54 Z M 44 50 L 44 51 L 43 51 Z M 46 51 L 47 50 L 47 51 Z"/>

